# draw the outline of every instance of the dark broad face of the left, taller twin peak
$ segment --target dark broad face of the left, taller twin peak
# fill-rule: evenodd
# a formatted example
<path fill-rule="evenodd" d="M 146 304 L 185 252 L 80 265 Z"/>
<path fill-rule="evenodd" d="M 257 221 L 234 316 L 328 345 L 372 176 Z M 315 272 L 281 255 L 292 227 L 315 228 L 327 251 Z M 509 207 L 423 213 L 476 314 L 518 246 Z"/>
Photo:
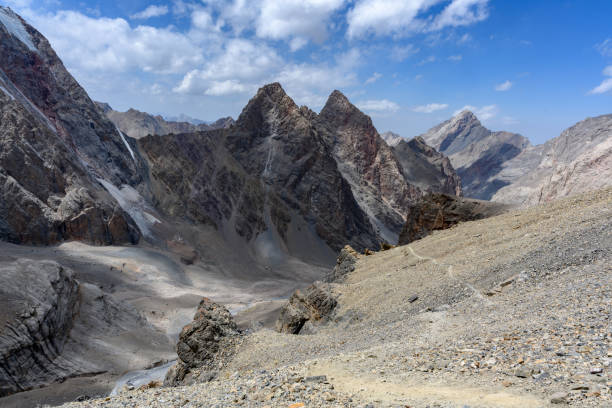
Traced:
<path fill-rule="evenodd" d="M 271 231 L 290 247 L 295 225 L 310 225 L 299 234 L 312 228 L 334 250 L 377 247 L 313 115 L 271 84 L 230 129 L 140 139 L 156 205 L 247 240 Z"/>

